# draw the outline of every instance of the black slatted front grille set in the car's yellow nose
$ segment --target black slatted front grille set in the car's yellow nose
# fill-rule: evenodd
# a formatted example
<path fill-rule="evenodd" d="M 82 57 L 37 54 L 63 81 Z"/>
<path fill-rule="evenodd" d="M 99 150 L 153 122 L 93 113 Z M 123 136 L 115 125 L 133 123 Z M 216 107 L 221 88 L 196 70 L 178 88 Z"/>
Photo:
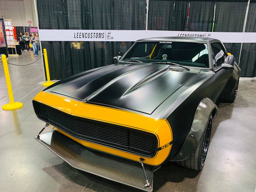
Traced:
<path fill-rule="evenodd" d="M 77 139 L 145 157 L 156 153 L 157 138 L 152 133 L 73 116 L 37 101 L 33 101 L 33 106 L 39 119 Z"/>

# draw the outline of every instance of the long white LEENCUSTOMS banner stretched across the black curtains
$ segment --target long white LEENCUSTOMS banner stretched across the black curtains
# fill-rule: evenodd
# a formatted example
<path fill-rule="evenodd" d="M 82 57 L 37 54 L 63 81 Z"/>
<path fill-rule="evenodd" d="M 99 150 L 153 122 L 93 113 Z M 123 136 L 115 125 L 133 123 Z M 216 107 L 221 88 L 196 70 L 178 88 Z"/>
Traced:
<path fill-rule="evenodd" d="M 58 30 L 39 29 L 40 41 L 137 41 L 139 39 L 191 36 L 213 38 L 223 43 L 256 43 L 256 33 L 153 30 Z"/>

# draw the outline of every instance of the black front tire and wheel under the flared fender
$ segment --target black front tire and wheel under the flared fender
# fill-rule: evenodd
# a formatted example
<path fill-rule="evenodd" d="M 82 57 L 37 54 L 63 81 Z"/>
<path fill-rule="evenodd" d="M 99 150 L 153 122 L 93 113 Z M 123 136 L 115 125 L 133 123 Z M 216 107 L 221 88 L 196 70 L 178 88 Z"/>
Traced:
<path fill-rule="evenodd" d="M 183 161 L 176 161 L 177 164 L 187 167 L 193 170 L 201 170 L 204 165 L 204 161 L 207 155 L 210 138 L 211 138 L 211 131 L 212 131 L 212 115 L 210 116 L 207 127 L 204 130 L 204 133 L 199 140 L 199 143 L 196 149 L 191 153 L 191 155 L 183 160 Z"/>

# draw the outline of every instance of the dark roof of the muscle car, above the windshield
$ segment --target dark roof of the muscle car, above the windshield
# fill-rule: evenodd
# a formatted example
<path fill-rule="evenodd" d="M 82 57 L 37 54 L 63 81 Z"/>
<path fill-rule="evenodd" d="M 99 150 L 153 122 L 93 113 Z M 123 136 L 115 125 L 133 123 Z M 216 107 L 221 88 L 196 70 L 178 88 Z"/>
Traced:
<path fill-rule="evenodd" d="M 210 42 L 214 41 L 216 39 L 212 38 L 203 38 L 203 37 L 155 37 L 155 38 L 146 38 L 146 39 L 140 39 L 138 41 L 186 41 L 186 42 Z"/>

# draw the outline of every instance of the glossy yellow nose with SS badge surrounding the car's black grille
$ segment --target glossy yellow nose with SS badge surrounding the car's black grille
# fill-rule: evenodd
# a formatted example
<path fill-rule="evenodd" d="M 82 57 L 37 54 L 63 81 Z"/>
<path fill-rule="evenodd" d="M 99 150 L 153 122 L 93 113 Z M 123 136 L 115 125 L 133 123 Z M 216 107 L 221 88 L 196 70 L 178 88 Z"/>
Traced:
<path fill-rule="evenodd" d="M 153 156 L 146 157 L 130 151 L 125 151 L 111 146 L 105 146 L 104 144 L 86 141 L 86 139 L 84 140 L 80 138 L 75 138 L 66 131 L 63 131 L 63 129 L 61 130 L 57 128 L 58 126 L 52 126 L 54 130 L 68 136 L 77 143 L 80 143 L 81 145 L 88 148 L 110 153 L 114 156 L 119 156 L 137 162 L 140 161 L 140 158 L 143 158 L 145 159 L 145 164 L 152 166 L 158 166 L 163 163 L 167 159 L 171 151 L 171 142 L 173 140 L 172 130 L 170 124 L 166 119 L 156 119 L 126 110 L 88 104 L 43 91 L 35 96 L 34 101 L 47 105 L 51 108 L 54 108 L 55 110 L 57 109 L 65 113 L 65 115 L 68 114 L 72 117 L 85 118 L 94 121 L 96 120 L 101 123 L 111 123 L 116 126 L 129 128 L 132 131 L 140 131 L 141 133 L 146 132 L 147 134 L 155 135 L 155 138 L 157 140 Z M 52 118 L 54 119 L 57 117 Z M 51 122 L 47 123 L 51 125 Z M 143 141 L 142 145 L 146 144 L 147 141 Z"/>

